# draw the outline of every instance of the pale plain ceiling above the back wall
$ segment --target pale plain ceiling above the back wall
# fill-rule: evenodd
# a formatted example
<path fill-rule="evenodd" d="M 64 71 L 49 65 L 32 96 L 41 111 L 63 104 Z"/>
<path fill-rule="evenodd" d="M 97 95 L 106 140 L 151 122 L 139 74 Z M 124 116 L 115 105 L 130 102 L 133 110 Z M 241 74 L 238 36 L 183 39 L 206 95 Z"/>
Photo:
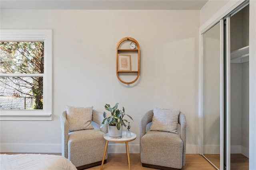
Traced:
<path fill-rule="evenodd" d="M 200 10 L 208 0 L 0 0 L 0 9 Z"/>

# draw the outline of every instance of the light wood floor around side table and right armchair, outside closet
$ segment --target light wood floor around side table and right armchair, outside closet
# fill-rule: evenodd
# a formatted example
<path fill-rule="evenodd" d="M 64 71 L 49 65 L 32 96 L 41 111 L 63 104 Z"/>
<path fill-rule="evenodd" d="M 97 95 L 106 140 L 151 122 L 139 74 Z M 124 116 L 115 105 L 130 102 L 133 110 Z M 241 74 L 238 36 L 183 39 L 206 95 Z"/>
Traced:
<path fill-rule="evenodd" d="M 130 154 L 132 170 L 153 170 L 152 168 L 142 167 L 140 154 Z M 87 170 L 99 170 L 100 166 L 88 168 Z M 108 154 L 107 163 L 103 165 L 103 170 L 128 170 L 126 154 Z M 176 169 L 174 169 L 176 170 Z M 200 154 L 186 154 L 186 165 L 182 170 L 216 170 Z"/>

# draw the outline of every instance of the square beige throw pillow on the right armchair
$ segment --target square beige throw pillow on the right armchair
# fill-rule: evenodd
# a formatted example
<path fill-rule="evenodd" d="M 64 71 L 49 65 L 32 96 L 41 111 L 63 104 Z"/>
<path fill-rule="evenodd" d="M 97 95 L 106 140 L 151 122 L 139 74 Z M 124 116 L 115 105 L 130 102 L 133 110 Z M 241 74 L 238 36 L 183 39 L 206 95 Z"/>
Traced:
<path fill-rule="evenodd" d="M 154 107 L 150 131 L 164 131 L 178 134 L 180 110 Z"/>

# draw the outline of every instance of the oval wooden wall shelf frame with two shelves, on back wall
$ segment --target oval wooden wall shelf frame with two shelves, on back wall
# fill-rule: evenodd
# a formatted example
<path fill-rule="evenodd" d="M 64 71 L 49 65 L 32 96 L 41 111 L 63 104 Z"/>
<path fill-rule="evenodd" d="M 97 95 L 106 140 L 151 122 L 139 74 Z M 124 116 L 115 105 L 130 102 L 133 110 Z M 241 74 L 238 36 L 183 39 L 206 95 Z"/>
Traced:
<path fill-rule="evenodd" d="M 122 43 L 125 43 L 125 41 L 128 41 L 128 43 L 135 43 L 136 47 L 134 49 L 121 49 L 120 46 Z M 127 45 L 126 45 L 127 46 Z M 122 55 L 122 53 L 124 53 L 123 55 L 126 55 L 127 53 L 132 53 L 132 54 L 137 54 L 138 55 L 138 69 L 137 70 L 120 70 L 118 69 L 118 56 Z M 130 64 L 132 64 L 130 62 Z M 137 73 L 136 78 L 131 81 L 131 82 L 126 82 L 124 80 L 122 80 L 119 76 L 119 73 Z M 136 80 L 138 80 L 139 76 L 140 76 L 140 45 L 139 43 L 136 41 L 136 39 L 132 38 L 132 37 L 124 37 L 122 39 L 120 39 L 120 41 L 117 43 L 116 45 L 116 76 L 118 78 L 118 80 L 120 80 L 120 82 L 124 83 L 124 84 L 132 84 L 134 82 L 136 82 Z"/>

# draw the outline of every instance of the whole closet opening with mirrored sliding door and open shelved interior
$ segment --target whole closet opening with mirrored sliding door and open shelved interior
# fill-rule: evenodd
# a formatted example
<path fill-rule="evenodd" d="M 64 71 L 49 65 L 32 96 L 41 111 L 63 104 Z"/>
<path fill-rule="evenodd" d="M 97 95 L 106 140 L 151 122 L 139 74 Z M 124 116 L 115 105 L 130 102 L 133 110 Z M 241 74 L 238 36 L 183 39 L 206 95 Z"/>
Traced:
<path fill-rule="evenodd" d="M 249 170 L 249 2 L 202 33 L 202 156 Z"/>

